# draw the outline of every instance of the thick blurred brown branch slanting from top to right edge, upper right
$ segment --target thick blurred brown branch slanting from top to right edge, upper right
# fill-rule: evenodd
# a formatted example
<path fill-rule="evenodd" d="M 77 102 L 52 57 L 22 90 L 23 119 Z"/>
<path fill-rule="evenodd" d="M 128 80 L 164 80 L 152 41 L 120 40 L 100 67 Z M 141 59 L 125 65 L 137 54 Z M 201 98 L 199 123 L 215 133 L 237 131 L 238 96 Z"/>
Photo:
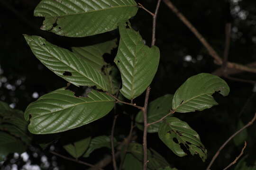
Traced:
<path fill-rule="evenodd" d="M 193 34 L 198 38 L 198 40 L 204 45 L 204 47 L 208 50 L 211 57 L 215 59 L 215 63 L 218 65 L 222 65 L 223 61 L 219 57 L 219 54 L 212 48 L 212 46 L 209 44 L 209 42 L 206 41 L 206 39 L 198 32 L 198 30 L 189 22 L 189 20 L 183 16 L 183 14 L 173 5 L 173 3 L 170 0 L 163 0 L 165 4 L 174 12 L 174 14 L 179 17 L 179 19 L 192 31 Z M 228 62 L 227 68 L 235 68 L 247 72 L 256 73 L 256 68 L 249 68 L 247 66 Z"/>

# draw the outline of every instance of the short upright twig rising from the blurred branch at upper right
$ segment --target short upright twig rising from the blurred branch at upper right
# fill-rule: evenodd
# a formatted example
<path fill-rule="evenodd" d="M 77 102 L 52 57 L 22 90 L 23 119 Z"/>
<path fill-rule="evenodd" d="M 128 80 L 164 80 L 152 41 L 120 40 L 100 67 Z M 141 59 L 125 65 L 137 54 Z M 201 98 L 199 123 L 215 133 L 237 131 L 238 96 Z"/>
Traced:
<path fill-rule="evenodd" d="M 225 40 L 225 49 L 224 49 L 224 54 L 223 54 L 224 58 L 223 58 L 223 63 L 222 63 L 223 72 L 226 72 L 226 67 L 227 67 L 228 58 L 229 58 L 231 23 L 226 24 L 225 34 L 226 34 L 226 40 Z"/>

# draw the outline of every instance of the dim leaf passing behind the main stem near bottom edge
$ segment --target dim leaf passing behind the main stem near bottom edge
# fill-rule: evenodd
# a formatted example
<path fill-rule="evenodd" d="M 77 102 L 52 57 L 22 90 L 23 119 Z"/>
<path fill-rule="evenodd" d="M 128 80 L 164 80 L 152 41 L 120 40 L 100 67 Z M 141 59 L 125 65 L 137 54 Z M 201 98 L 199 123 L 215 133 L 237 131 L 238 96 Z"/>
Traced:
<path fill-rule="evenodd" d="M 139 161 L 143 161 L 143 146 L 138 143 L 130 143 L 127 149 L 128 153 L 132 153 Z M 153 149 L 147 150 L 147 159 L 148 159 L 148 169 L 149 170 L 158 170 L 159 168 L 164 168 L 169 166 L 169 163 L 165 160 L 163 156 L 157 153 Z"/>

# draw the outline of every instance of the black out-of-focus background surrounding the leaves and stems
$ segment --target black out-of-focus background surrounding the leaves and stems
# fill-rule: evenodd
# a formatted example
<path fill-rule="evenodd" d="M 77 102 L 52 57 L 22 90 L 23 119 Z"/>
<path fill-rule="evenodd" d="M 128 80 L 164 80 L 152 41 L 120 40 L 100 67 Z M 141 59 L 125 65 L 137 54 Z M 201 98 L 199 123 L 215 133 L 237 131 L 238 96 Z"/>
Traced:
<path fill-rule="evenodd" d="M 150 11 L 155 10 L 156 0 L 139 0 Z M 174 5 L 186 16 L 193 26 L 210 42 L 212 47 L 222 56 L 225 48 L 225 25 L 232 24 L 229 61 L 248 64 L 256 61 L 256 1 L 255 0 L 172 0 Z M 39 0 L 0 0 L 0 101 L 9 103 L 12 107 L 25 110 L 30 102 L 38 96 L 64 87 L 66 82 L 53 74 L 32 54 L 22 34 L 40 35 L 64 48 L 85 46 L 118 37 L 118 31 L 99 34 L 85 38 L 68 38 L 57 36 L 40 30 L 43 18 L 33 17 L 33 10 Z M 147 44 L 151 44 L 152 17 L 146 11 L 139 9 L 131 19 L 134 29 L 139 30 Z M 205 47 L 192 32 L 179 20 L 162 2 L 156 26 L 156 45 L 161 52 L 161 59 L 155 79 L 152 82 L 150 101 L 175 90 L 190 76 L 201 72 L 212 73 L 218 65 Z M 114 56 L 114 52 L 112 54 Z M 233 77 L 256 80 L 255 73 L 242 72 Z M 225 78 L 224 78 L 225 79 Z M 218 106 L 193 113 L 178 113 L 175 116 L 186 121 L 196 130 L 202 143 L 208 150 L 208 159 L 202 162 L 199 156 L 179 158 L 163 144 L 157 134 L 148 135 L 148 146 L 161 153 L 171 165 L 179 170 L 206 169 L 212 156 L 229 136 L 237 130 L 238 120 L 246 124 L 252 119 L 256 107 L 255 85 L 225 79 L 230 86 L 229 96 L 214 94 Z M 34 95 L 33 95 L 34 94 Z M 143 105 L 144 95 L 135 99 Z M 119 107 L 123 112 L 124 108 Z M 126 107 L 129 114 L 137 110 Z M 34 136 L 35 144 L 27 150 L 28 160 L 16 155 L 2 164 L 4 170 L 10 167 L 32 170 L 24 165 L 41 166 L 45 170 L 82 170 L 83 165 L 66 161 L 42 151 L 36 144 L 38 141 L 58 138 L 52 148 L 68 156 L 59 144 L 66 143 L 77 136 L 110 135 L 113 114 L 97 120 L 90 125 L 80 127 L 62 134 Z M 121 114 L 117 123 L 116 136 L 121 141 L 129 130 L 129 116 Z M 256 125 L 247 129 L 247 155 L 249 165 L 256 161 Z M 141 142 L 142 132 L 136 129 L 137 142 Z M 220 153 L 212 166 L 212 170 L 226 167 L 241 151 L 243 145 L 236 146 L 231 141 Z M 101 149 L 85 161 L 95 163 L 103 158 L 108 149 Z M 1 166 L 1 164 L 0 164 Z M 5 167 L 5 168 L 4 168 Z M 111 169 L 111 165 L 106 169 Z M 232 169 L 232 168 L 231 168 Z"/>

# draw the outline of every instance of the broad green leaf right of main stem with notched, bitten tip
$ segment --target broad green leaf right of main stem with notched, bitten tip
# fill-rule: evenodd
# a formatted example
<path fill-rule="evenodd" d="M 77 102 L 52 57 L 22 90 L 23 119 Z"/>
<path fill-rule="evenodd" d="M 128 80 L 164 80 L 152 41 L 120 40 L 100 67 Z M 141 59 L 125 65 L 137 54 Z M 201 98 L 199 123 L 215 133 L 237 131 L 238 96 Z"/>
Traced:
<path fill-rule="evenodd" d="M 173 110 L 186 113 L 209 109 L 218 104 L 211 96 L 215 92 L 229 94 L 229 86 L 223 79 L 208 73 L 192 76 L 175 92 Z"/>

